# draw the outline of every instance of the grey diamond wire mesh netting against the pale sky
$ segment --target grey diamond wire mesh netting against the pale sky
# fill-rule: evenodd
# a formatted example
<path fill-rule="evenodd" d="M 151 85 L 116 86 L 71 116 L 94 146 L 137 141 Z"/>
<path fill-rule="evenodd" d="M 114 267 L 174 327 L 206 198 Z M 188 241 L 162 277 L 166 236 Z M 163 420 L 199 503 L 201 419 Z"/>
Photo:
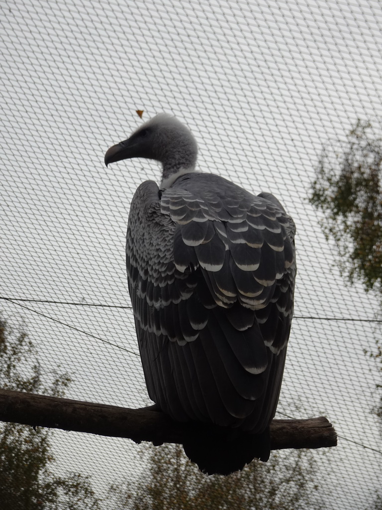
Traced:
<path fill-rule="evenodd" d="M 149 403 L 124 267 L 134 190 L 156 163 L 103 155 L 156 113 L 194 133 L 198 168 L 274 193 L 297 225 L 295 318 L 276 418 L 327 416 L 316 452 L 327 508 L 367 508 L 381 484 L 371 409 L 378 301 L 347 285 L 308 202 L 322 146 L 382 115 L 379 2 L 2 2 L 1 311 L 24 321 L 66 396 Z M 379 125 L 379 124 L 378 124 Z M 356 320 L 354 320 L 356 319 Z M 298 411 L 296 411 L 296 406 Z M 291 411 L 292 410 L 292 411 Z M 57 431 L 60 472 L 135 480 L 143 446 Z M 101 467 L 101 468 L 100 468 Z"/>

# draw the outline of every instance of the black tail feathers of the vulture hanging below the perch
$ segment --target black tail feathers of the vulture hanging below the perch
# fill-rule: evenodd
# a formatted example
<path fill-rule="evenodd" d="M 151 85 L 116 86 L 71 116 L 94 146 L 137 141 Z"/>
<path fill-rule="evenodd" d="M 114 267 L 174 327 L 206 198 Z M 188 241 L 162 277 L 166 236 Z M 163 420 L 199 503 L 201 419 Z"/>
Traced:
<path fill-rule="evenodd" d="M 229 475 L 241 471 L 255 457 L 266 462 L 270 454 L 269 427 L 261 434 L 239 430 L 208 430 L 183 444 L 190 461 L 208 475 Z"/>

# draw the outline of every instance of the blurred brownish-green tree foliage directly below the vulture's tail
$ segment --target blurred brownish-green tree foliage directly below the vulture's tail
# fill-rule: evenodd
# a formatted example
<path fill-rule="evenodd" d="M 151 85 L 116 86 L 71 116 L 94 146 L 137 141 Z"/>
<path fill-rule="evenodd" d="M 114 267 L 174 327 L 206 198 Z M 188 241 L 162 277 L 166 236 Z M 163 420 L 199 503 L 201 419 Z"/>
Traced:
<path fill-rule="evenodd" d="M 110 488 L 113 510 L 318 510 L 312 453 L 273 453 L 242 472 L 207 476 L 190 463 L 180 445 L 150 447 L 148 467 L 131 486 Z"/>

